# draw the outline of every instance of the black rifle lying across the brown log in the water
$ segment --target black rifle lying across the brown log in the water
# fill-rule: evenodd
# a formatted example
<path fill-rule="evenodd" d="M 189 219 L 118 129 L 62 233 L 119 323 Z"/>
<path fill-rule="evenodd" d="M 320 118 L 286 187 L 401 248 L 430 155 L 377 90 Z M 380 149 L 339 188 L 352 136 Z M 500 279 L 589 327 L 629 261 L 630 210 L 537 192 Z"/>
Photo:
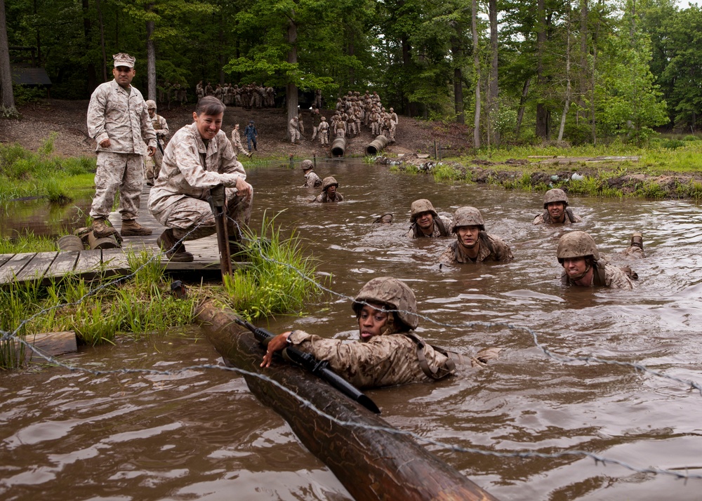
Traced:
<path fill-rule="evenodd" d="M 237 318 L 235 321 L 240 326 L 251 330 L 253 337 L 264 346 L 267 346 L 268 342 L 275 337 L 273 333 L 270 333 L 264 328 L 256 327 L 246 320 Z M 350 399 L 357 401 L 366 409 L 371 410 L 371 412 L 380 414 L 380 409 L 378 406 L 376 406 L 376 403 L 373 402 L 369 396 L 366 396 L 363 392 L 361 392 L 357 387 L 331 370 L 329 368 L 329 362 L 326 360 L 317 360 L 311 354 L 301 352 L 299 349 L 291 346 L 283 350 L 283 358 L 296 363 L 296 365 L 301 366 L 306 370 L 309 370 L 312 374 L 325 380 Z"/>

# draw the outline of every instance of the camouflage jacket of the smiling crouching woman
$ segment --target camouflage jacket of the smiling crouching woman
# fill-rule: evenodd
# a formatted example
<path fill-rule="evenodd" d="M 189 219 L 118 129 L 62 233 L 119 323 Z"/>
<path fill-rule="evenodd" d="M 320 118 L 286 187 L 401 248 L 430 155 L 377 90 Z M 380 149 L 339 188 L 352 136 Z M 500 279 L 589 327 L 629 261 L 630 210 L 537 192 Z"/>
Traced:
<path fill-rule="evenodd" d="M 163 223 L 180 199 L 206 200 L 210 188 L 234 187 L 239 178 L 246 180 L 246 171 L 227 134 L 220 130 L 205 146 L 196 124 L 191 123 L 173 134 L 166 147 L 161 173 L 149 196 L 149 210 Z"/>

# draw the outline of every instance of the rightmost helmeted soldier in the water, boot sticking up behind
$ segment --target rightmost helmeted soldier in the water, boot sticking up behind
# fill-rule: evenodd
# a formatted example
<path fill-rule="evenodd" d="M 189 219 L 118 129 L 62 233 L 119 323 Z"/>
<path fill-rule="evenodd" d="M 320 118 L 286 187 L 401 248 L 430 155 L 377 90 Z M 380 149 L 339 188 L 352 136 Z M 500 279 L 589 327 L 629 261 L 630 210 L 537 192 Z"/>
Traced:
<path fill-rule="evenodd" d="M 638 276 L 627 267 L 610 265 L 600 255 L 595 240 L 587 232 L 568 232 L 558 240 L 556 255 L 563 267 L 561 282 L 565 286 L 633 288 L 632 279 Z M 643 239 L 640 233 L 633 234 L 631 246 L 623 255 L 644 257 Z"/>

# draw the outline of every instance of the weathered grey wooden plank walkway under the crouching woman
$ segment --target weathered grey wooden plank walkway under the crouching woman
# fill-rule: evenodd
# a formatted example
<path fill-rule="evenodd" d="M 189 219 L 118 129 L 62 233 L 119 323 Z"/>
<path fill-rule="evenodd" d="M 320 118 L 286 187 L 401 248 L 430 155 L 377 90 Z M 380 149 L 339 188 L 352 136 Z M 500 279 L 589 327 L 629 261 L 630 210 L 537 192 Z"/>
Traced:
<path fill-rule="evenodd" d="M 207 272 L 216 274 L 220 270 L 219 251 L 215 235 L 186 243 L 188 252 L 194 256 L 193 262 L 168 262 L 166 255 L 156 245 L 156 239 L 166 229 L 149 212 L 150 187 L 144 186 L 138 218 L 140 225 L 151 228 L 148 236 L 125 236 L 122 248 L 96 250 L 69 250 L 42 253 L 0 254 L 0 284 L 11 282 L 41 281 L 45 285 L 62 276 L 72 274 L 84 279 L 96 276 L 115 276 L 130 272 L 127 253 L 141 252 L 161 254 L 161 265 L 166 272 Z M 119 213 L 110 214 L 112 225 L 120 229 Z M 58 249 L 58 247 L 57 247 Z M 237 263 L 232 263 L 236 267 Z"/>

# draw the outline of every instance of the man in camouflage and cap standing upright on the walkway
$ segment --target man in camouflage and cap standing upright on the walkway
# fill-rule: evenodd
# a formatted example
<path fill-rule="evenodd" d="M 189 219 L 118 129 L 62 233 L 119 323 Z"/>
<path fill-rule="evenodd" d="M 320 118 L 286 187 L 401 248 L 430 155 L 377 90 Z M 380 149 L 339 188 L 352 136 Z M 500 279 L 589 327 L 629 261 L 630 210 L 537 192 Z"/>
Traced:
<path fill-rule="evenodd" d="M 131 86 L 135 58 L 125 53 L 112 58 L 114 80 L 100 84 L 88 105 L 88 134 L 98 143 L 95 198 L 90 210 L 93 234 L 100 238 L 117 232 L 107 225 L 107 216 L 119 189 L 122 236 L 150 235 L 152 230 L 136 218 L 144 186 L 144 143 L 153 156 L 156 133 L 143 96 Z"/>

